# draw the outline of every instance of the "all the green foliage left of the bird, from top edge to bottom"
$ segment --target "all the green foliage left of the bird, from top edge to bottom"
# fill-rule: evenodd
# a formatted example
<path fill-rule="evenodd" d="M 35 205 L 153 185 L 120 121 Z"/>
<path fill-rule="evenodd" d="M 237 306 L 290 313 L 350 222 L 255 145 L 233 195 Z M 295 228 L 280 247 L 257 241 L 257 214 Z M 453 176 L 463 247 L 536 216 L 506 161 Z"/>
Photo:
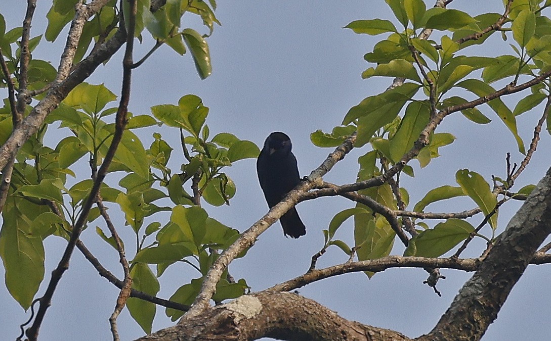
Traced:
<path fill-rule="evenodd" d="M 73 19 L 77 3 L 77 0 L 53 1 L 47 14 L 47 41 L 57 40 L 63 28 Z M 122 8 L 118 7 L 120 3 Z M 214 24 L 220 24 L 214 15 L 215 0 L 208 3 L 202 0 L 168 0 L 154 12 L 150 11 L 151 5 L 150 0 L 137 2 L 138 40 L 142 42 L 143 33 L 147 31 L 156 41 L 153 50 L 164 43 L 182 55 L 190 50 L 199 76 L 203 79 L 209 76 L 210 55 L 205 38 L 212 34 Z M 208 28 L 207 35 L 202 36 L 191 28 L 182 27 L 181 18 L 186 12 L 202 18 L 203 25 Z M 74 64 L 85 57 L 92 41 L 98 44 L 111 38 L 119 28 L 122 16 L 128 18 L 128 2 L 115 0 L 109 1 L 93 15 L 84 25 Z M 16 86 L 20 76 L 21 53 L 14 45 L 20 40 L 22 32 L 23 27 L 6 32 L 6 22 L 0 14 L 0 47 Z M 42 35 L 39 35 L 30 39 L 30 52 L 35 50 L 41 38 Z M 42 89 L 55 77 L 56 69 L 50 63 L 31 58 L 28 90 Z M 3 78 L 0 82 L 0 87 L 7 86 Z M 43 96 L 40 94 L 34 99 L 40 100 Z M 115 100 L 115 94 L 102 84 L 79 84 L 48 114 L 39 131 L 18 152 L 8 199 L 2 212 L 0 257 L 6 269 L 7 288 L 24 309 L 30 307 L 44 279 L 44 239 L 52 235 L 68 239 L 87 201 L 93 179 L 82 179 L 74 170 L 85 165 L 79 160 L 87 158 L 95 174 L 104 160 L 115 134 Z M 12 133 L 12 114 L 7 98 L 3 104 L 0 108 L 0 144 Z M 31 109 L 28 106 L 25 114 Z M 226 167 L 245 158 L 255 158 L 260 150 L 252 142 L 240 140 L 229 133 L 220 133 L 209 139 L 210 131 L 205 124 L 209 108 L 195 95 L 183 96 L 177 105 L 154 106 L 151 111 L 152 115 L 134 116 L 128 113 L 126 130 L 109 168 L 110 173 L 123 172 L 125 175 L 117 186 L 102 184 L 100 196 L 107 206 L 120 207 L 127 226 L 135 234 L 136 255 L 131 260 L 133 287 L 155 295 L 160 289 L 157 278 L 170 265 L 188 263 L 195 269 L 193 271 L 197 271 L 197 276 L 190 276 L 196 278 L 177 289 L 171 299 L 191 304 L 190 300 L 196 296 L 202 277 L 219 252 L 239 235 L 237 230 L 208 217 L 207 212 L 197 206 L 198 201 L 202 198 L 214 206 L 229 204 L 236 188 L 224 172 Z M 54 123 L 59 123 L 57 129 L 52 127 Z M 175 157 L 171 159 L 174 149 L 161 134 L 153 133 L 153 142 L 145 149 L 141 138 L 134 133 L 136 129 L 162 124 L 180 128 L 181 161 L 175 161 Z M 52 128 L 55 130 L 47 133 Z M 54 139 L 57 145 L 47 146 L 46 134 L 50 136 L 46 141 L 51 141 L 51 136 L 61 136 Z M 68 181 L 70 177 L 74 180 Z M 195 193 L 188 194 L 192 182 Z M 61 216 L 52 212 L 52 205 L 56 206 L 55 211 L 61 212 Z M 93 207 L 87 226 L 100 213 L 98 207 Z M 161 223 L 163 221 L 164 224 Z M 95 230 L 101 239 L 116 248 L 112 236 L 100 227 Z M 156 267 L 155 273 L 151 265 Z M 214 300 L 222 301 L 244 294 L 247 289 L 244 279 L 229 283 L 225 278 L 218 283 Z M 143 300 L 129 299 L 128 309 L 144 331 L 149 333 L 156 306 Z M 166 314 L 173 319 L 181 313 L 166 310 Z"/>

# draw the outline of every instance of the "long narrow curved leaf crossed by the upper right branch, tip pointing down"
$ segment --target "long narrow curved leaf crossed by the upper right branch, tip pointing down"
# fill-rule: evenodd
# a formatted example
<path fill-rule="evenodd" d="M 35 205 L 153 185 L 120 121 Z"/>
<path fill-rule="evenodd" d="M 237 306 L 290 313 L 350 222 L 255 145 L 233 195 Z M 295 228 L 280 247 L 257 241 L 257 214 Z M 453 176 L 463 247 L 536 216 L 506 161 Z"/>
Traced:
<path fill-rule="evenodd" d="M 478 79 L 467 79 L 457 84 L 457 86 L 463 87 L 464 89 L 467 89 L 480 97 L 484 97 L 495 92 L 493 87 Z M 488 102 L 488 105 L 495 111 L 495 113 L 498 114 L 499 118 L 503 121 L 503 123 L 505 123 L 507 128 L 509 128 L 515 137 L 518 145 L 518 151 L 525 154 L 524 142 L 522 142 L 522 139 L 518 136 L 516 119 L 511 110 L 507 108 L 505 103 L 503 103 L 500 98 L 494 98 Z"/>

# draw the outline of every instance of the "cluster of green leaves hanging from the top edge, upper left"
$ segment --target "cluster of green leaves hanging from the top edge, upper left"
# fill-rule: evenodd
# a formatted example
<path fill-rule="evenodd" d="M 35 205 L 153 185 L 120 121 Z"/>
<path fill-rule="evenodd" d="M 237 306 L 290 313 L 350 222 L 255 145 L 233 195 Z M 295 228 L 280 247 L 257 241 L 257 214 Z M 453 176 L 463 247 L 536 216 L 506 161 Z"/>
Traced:
<path fill-rule="evenodd" d="M 55 41 L 63 27 L 71 22 L 75 15 L 75 4 L 77 3 L 78 0 L 53 1 L 47 14 L 48 26 L 45 34 L 47 41 Z M 122 1 L 122 4 L 122 9 L 120 9 L 118 8 L 119 2 L 116 0 L 109 1 L 85 23 L 75 52 L 74 63 L 79 62 L 84 57 L 93 40 L 95 43 L 103 42 L 115 34 L 120 23 L 121 14 L 126 18 L 129 17 L 128 2 Z M 214 24 L 220 25 L 214 15 L 215 0 L 209 0 L 208 4 L 202 0 L 168 0 L 163 7 L 154 13 L 150 11 L 151 5 L 150 0 L 137 0 L 136 37 L 143 41 L 145 29 L 158 45 L 165 43 L 182 56 L 189 49 L 197 73 L 202 79 L 207 78 L 212 73 L 212 67 L 208 43 L 205 38 L 212 34 Z M 186 12 L 199 15 L 203 20 L 203 25 L 208 27 L 209 33 L 201 35 L 189 27 L 182 28 L 181 19 Z M 20 36 L 20 32 L 17 36 Z"/>

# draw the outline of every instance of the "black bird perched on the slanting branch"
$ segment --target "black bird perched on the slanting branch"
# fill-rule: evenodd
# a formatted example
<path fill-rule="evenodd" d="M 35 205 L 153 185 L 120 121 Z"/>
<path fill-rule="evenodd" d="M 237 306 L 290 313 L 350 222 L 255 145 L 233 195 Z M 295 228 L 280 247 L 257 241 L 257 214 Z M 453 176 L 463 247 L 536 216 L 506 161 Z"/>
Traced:
<path fill-rule="evenodd" d="M 299 168 L 291 152 L 291 140 L 287 134 L 276 131 L 268 136 L 256 161 L 256 172 L 270 208 L 276 206 L 290 190 L 299 184 Z M 279 221 L 285 236 L 299 238 L 306 234 L 306 227 L 300 220 L 295 207 L 287 211 Z"/>

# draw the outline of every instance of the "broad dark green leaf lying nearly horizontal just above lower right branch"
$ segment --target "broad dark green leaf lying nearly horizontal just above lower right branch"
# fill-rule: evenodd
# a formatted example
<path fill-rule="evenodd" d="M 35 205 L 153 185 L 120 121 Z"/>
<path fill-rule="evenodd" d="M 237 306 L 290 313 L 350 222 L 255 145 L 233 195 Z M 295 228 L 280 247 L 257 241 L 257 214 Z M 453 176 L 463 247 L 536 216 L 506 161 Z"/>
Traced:
<path fill-rule="evenodd" d="M 424 230 L 409 240 L 404 256 L 440 257 L 467 239 L 474 227 L 461 219 L 447 219 L 434 229 Z"/>

